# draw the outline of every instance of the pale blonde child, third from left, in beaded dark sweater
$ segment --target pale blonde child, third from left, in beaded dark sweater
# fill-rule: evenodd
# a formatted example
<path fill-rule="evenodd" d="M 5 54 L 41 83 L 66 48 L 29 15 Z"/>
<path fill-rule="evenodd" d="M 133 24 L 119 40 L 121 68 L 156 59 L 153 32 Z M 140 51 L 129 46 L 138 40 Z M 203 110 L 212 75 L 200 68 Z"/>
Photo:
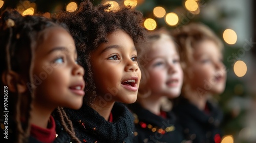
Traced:
<path fill-rule="evenodd" d="M 177 46 L 169 33 L 159 30 L 139 47 L 142 79 L 138 102 L 129 106 L 135 115 L 134 142 L 182 142 L 174 113 L 161 108 L 163 100 L 180 95 L 183 71 Z"/>

